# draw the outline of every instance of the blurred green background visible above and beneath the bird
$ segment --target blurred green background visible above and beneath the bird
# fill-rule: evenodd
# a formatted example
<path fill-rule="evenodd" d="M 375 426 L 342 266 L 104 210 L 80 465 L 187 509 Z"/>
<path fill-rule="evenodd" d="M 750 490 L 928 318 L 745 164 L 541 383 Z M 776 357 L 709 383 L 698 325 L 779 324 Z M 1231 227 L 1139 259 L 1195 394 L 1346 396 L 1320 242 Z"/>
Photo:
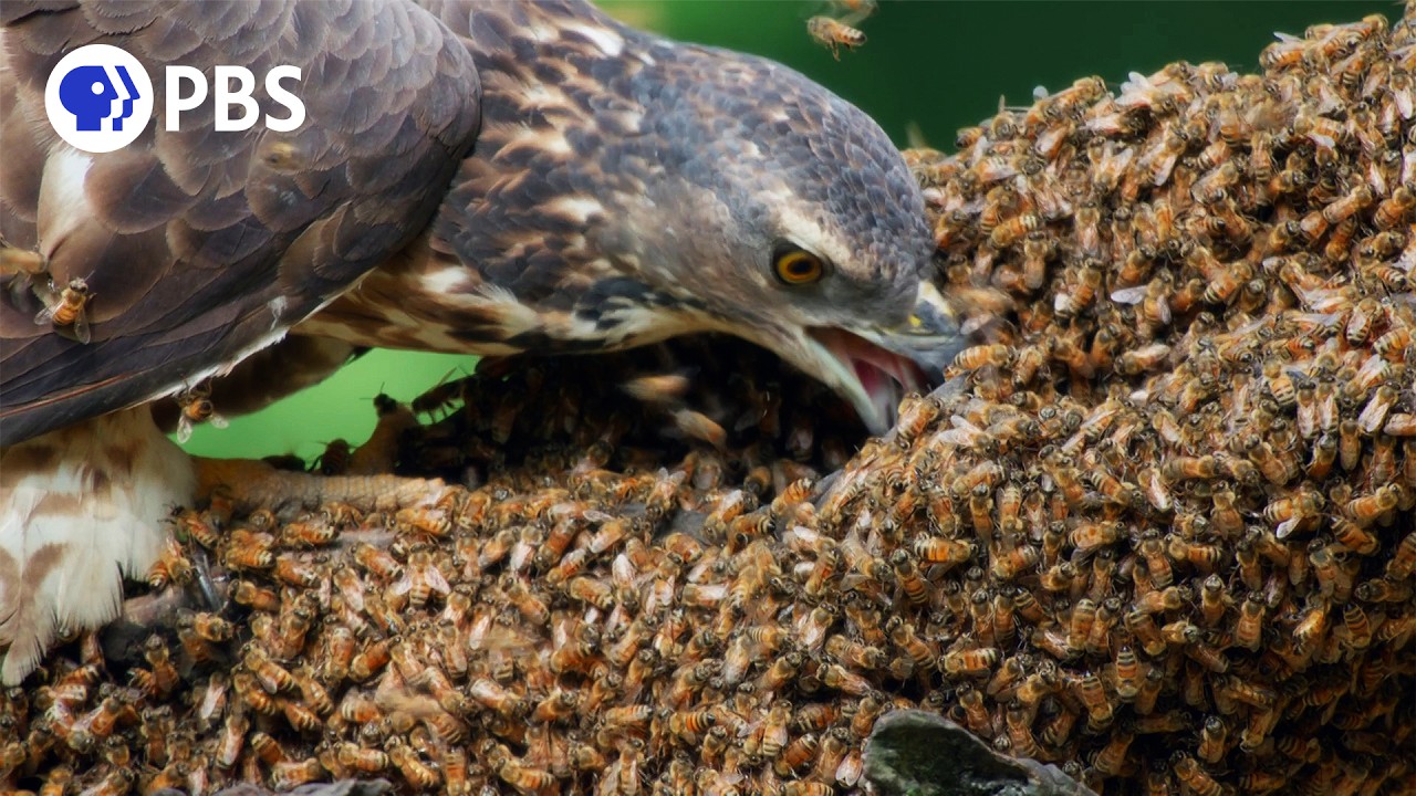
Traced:
<path fill-rule="evenodd" d="M 858 27 L 864 48 L 834 61 L 806 34 L 806 20 L 830 13 L 820 1 L 610 0 L 630 24 L 673 38 L 756 52 L 789 64 L 861 106 L 901 144 L 910 123 L 925 140 L 952 150 L 954 132 L 1008 105 L 1031 103 L 1032 89 L 1056 91 L 1100 75 L 1113 88 L 1129 71 L 1150 74 L 1171 61 L 1223 61 L 1257 71 L 1273 31 L 1301 34 L 1324 21 L 1355 21 L 1391 1 L 882 1 Z M 227 429 L 198 428 L 187 449 L 214 456 L 316 456 L 323 442 L 362 440 L 374 426 L 379 391 L 409 399 L 449 370 L 470 373 L 473 357 L 374 351 L 324 384 L 269 409 L 232 418 Z M 219 408 L 218 408 L 219 409 Z"/>

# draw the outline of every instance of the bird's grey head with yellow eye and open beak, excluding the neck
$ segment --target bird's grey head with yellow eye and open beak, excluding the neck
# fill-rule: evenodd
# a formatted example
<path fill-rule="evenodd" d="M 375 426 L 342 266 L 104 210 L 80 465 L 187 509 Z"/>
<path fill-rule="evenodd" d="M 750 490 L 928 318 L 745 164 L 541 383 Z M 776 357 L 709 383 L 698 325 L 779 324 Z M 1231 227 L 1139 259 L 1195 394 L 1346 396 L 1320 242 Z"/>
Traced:
<path fill-rule="evenodd" d="M 960 347 L 927 282 L 916 181 L 872 119 L 799 72 L 674 52 L 651 54 L 664 74 L 641 78 L 657 92 L 639 92 L 649 137 L 666 146 L 620 194 L 613 248 L 677 299 L 666 312 L 775 351 L 884 431 L 901 392 Z"/>

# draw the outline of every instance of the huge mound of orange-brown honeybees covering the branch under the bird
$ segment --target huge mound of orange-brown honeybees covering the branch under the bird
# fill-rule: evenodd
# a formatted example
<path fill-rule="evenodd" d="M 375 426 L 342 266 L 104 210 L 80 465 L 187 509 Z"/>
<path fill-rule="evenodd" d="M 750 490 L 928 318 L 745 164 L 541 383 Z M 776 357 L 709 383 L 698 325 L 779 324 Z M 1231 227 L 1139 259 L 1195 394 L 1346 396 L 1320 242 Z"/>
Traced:
<path fill-rule="evenodd" d="M 923 707 L 1104 793 L 1412 793 L 1416 33 L 1260 62 L 908 153 L 984 341 L 854 456 L 690 341 L 385 406 L 418 504 L 184 511 L 214 605 L 7 691 L 6 783 L 827 793 Z"/>

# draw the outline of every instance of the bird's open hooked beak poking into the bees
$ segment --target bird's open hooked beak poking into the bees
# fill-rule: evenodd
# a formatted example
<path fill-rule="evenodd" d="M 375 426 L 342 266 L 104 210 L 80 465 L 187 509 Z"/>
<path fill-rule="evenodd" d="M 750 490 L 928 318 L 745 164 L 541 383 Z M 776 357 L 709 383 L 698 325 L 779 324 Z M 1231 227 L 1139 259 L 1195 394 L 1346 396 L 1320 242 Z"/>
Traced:
<path fill-rule="evenodd" d="M 905 394 L 942 382 L 963 348 L 953 310 L 929 282 L 920 282 L 915 309 L 901 326 L 811 329 L 804 341 L 813 365 L 807 373 L 850 401 L 871 433 L 889 429 Z"/>

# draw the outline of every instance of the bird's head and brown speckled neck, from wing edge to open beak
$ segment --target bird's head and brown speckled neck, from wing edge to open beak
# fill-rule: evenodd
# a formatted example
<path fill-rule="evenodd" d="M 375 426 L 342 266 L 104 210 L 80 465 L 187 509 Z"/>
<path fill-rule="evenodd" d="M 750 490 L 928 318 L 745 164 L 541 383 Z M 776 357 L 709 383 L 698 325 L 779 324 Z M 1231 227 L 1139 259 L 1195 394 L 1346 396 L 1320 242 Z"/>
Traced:
<path fill-rule="evenodd" d="M 729 333 L 875 432 L 942 375 L 960 334 L 926 280 L 923 200 L 860 109 L 780 64 L 581 3 L 443 20 L 479 64 L 481 132 L 415 278 L 381 269 L 343 313 L 411 319 L 411 340 L 384 323 L 357 341 L 602 351 Z M 396 313 L 370 309 L 379 295 Z M 331 310 L 316 331 L 334 331 Z"/>

